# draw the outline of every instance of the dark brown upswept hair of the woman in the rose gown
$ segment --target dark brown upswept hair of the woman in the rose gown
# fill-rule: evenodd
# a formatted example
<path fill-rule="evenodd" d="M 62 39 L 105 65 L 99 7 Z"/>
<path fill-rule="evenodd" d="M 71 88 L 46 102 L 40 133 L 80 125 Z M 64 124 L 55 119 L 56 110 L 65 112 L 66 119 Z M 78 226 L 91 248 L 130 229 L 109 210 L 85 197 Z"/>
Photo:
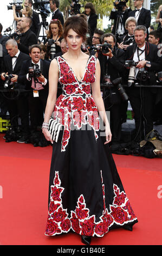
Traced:
<path fill-rule="evenodd" d="M 73 29 L 78 35 L 82 36 L 83 41 L 86 41 L 86 34 L 88 31 L 88 24 L 85 19 L 80 16 L 71 16 L 64 22 L 63 36 L 66 39 L 69 29 Z"/>

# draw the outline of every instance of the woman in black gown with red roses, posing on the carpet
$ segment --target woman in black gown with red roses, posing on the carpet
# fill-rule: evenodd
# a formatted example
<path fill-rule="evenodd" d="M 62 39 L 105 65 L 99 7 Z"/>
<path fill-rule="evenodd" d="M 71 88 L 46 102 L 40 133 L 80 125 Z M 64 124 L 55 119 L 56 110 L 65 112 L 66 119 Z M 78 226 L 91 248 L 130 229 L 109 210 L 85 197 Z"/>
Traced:
<path fill-rule="evenodd" d="M 64 23 L 69 50 L 50 64 L 42 131 L 53 143 L 45 234 L 74 231 L 89 245 L 91 237 L 102 237 L 118 227 L 132 230 L 138 220 L 109 151 L 112 135 L 100 92 L 99 61 L 81 51 L 86 32 L 82 17 L 72 16 Z M 56 100 L 58 81 L 62 95 Z M 53 112 L 64 126 L 62 141 L 57 143 L 48 131 Z M 98 112 L 105 124 L 106 140 L 100 136 Z"/>

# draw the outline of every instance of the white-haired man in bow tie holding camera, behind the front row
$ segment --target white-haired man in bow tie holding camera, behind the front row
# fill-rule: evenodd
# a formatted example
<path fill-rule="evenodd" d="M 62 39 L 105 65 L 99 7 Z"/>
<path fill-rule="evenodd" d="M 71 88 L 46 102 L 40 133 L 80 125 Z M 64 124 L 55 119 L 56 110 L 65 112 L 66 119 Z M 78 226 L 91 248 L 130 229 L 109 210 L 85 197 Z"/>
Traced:
<path fill-rule="evenodd" d="M 120 44 L 119 44 L 119 42 L 117 43 L 118 48 L 126 50 L 129 45 L 133 45 L 135 43 L 134 29 L 135 29 L 136 26 L 137 26 L 137 21 L 135 20 L 134 17 L 129 17 L 126 20 L 125 28 L 127 30 L 127 34 L 122 35 L 120 37 L 121 42 L 120 42 Z"/>

